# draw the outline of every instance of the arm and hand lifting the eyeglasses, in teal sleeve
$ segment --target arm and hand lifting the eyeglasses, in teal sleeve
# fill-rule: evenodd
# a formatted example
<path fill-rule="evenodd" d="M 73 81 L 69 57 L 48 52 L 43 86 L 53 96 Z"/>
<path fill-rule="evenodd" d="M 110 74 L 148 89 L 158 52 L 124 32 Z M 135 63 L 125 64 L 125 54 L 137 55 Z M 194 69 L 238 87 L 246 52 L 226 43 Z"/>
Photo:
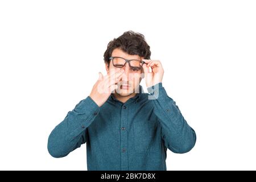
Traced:
<path fill-rule="evenodd" d="M 143 61 L 146 63 L 143 64 L 146 85 L 151 94 L 148 97 L 154 102 L 154 113 L 160 122 L 164 144 L 175 153 L 188 152 L 196 143 L 196 133 L 163 88 L 162 63 L 159 60 L 143 59 Z"/>

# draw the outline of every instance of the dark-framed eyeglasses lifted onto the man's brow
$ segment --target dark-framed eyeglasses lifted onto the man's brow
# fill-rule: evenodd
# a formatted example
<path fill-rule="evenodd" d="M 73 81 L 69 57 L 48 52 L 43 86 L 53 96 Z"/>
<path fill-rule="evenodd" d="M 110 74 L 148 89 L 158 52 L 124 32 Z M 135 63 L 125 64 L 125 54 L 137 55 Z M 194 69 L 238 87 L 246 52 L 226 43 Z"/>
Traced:
<path fill-rule="evenodd" d="M 123 57 L 109 57 L 109 60 L 112 60 L 113 66 L 117 68 L 122 68 L 126 63 L 129 64 L 130 68 L 134 71 L 138 71 L 142 68 L 142 65 L 145 63 L 142 60 L 138 59 L 125 59 Z"/>

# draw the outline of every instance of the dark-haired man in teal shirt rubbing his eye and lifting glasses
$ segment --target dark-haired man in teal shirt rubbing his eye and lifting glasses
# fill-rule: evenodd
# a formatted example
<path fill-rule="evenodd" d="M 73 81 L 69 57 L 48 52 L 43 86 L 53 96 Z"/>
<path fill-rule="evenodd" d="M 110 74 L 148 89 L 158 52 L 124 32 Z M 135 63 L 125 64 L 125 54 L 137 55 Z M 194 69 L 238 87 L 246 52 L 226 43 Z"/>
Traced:
<path fill-rule="evenodd" d="M 49 154 L 61 158 L 86 142 L 88 170 L 166 170 L 167 148 L 190 151 L 195 131 L 168 97 L 162 64 L 150 55 L 142 34 L 112 40 L 104 53 L 108 74 L 99 73 L 90 95 L 49 135 Z"/>

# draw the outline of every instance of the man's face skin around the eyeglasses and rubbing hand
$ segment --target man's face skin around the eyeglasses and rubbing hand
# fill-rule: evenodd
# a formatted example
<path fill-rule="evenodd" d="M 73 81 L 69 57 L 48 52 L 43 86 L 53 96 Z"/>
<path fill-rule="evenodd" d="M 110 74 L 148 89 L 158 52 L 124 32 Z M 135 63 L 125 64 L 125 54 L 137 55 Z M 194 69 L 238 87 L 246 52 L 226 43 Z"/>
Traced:
<path fill-rule="evenodd" d="M 119 48 L 115 48 L 112 52 L 112 57 L 123 57 L 128 60 L 141 60 L 143 57 L 140 57 L 138 55 L 129 55 L 126 52 L 122 51 Z M 110 60 L 109 67 L 108 64 L 106 64 L 106 71 L 109 73 L 112 73 L 114 70 L 117 69 L 123 69 L 125 72 L 123 74 L 123 77 L 121 78 L 121 81 L 118 82 L 118 88 L 115 90 L 115 93 L 119 94 L 119 96 L 130 96 L 133 93 L 139 92 L 139 83 L 142 80 L 142 73 L 143 68 L 137 70 L 133 70 L 129 67 L 129 63 L 126 63 L 124 67 L 117 68 L 113 65 L 113 60 Z"/>

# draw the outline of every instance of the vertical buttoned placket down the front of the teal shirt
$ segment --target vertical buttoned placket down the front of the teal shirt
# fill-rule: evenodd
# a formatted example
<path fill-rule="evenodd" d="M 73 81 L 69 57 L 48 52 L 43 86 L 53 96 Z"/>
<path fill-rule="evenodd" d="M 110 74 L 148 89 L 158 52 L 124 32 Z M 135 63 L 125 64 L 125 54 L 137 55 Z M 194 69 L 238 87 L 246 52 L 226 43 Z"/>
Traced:
<path fill-rule="evenodd" d="M 127 136 L 127 118 L 128 109 L 127 106 L 122 106 L 121 111 L 121 170 L 128 170 L 128 136 Z"/>

